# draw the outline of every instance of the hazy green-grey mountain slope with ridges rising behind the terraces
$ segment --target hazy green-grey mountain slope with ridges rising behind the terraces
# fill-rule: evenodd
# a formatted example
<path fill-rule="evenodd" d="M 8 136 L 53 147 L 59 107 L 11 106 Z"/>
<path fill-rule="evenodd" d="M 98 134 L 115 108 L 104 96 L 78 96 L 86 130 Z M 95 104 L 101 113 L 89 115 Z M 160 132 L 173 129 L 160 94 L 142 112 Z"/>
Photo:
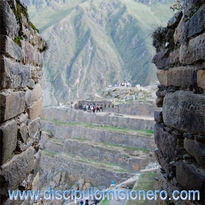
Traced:
<path fill-rule="evenodd" d="M 153 82 L 151 34 L 172 15 L 163 0 L 25 0 L 48 41 L 44 104 L 87 98 L 110 84 Z M 142 3 L 141 3 L 142 2 Z"/>

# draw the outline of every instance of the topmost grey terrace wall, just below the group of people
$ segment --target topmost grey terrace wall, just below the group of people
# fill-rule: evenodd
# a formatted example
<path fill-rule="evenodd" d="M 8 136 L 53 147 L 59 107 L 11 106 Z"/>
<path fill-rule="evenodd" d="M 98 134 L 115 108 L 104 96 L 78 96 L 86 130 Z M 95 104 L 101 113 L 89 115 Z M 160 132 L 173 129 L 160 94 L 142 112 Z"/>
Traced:
<path fill-rule="evenodd" d="M 153 130 L 153 117 L 121 116 L 117 113 L 89 113 L 62 107 L 47 107 L 43 109 L 42 118 L 65 122 L 85 122 L 128 129 Z"/>

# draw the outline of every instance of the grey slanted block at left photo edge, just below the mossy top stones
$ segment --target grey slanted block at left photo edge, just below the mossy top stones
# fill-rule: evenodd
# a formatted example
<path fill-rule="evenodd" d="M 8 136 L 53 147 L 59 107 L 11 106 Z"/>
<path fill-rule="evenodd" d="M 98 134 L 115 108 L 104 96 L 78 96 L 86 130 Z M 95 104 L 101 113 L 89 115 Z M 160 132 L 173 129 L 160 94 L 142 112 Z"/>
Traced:
<path fill-rule="evenodd" d="M 0 35 L 0 54 L 17 61 L 23 60 L 21 48 L 8 36 Z"/>

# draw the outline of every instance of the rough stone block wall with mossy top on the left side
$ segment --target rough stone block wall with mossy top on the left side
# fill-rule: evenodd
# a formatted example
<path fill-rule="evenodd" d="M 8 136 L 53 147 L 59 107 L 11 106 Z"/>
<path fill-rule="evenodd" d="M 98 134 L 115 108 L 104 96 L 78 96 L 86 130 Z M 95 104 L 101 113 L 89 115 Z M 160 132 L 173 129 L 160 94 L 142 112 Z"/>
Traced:
<path fill-rule="evenodd" d="M 40 157 L 41 52 L 46 48 L 17 0 L 0 1 L 0 202 L 32 189 Z M 18 204 L 18 202 L 14 202 Z"/>

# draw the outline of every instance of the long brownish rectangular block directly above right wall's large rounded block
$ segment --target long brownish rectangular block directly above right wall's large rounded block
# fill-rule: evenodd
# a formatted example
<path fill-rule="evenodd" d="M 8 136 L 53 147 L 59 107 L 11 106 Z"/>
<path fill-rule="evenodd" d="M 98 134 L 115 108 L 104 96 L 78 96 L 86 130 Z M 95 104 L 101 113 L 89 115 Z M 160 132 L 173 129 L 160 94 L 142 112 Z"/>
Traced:
<path fill-rule="evenodd" d="M 195 71 L 196 67 L 176 67 L 157 71 L 157 77 L 161 85 L 189 88 Z"/>

